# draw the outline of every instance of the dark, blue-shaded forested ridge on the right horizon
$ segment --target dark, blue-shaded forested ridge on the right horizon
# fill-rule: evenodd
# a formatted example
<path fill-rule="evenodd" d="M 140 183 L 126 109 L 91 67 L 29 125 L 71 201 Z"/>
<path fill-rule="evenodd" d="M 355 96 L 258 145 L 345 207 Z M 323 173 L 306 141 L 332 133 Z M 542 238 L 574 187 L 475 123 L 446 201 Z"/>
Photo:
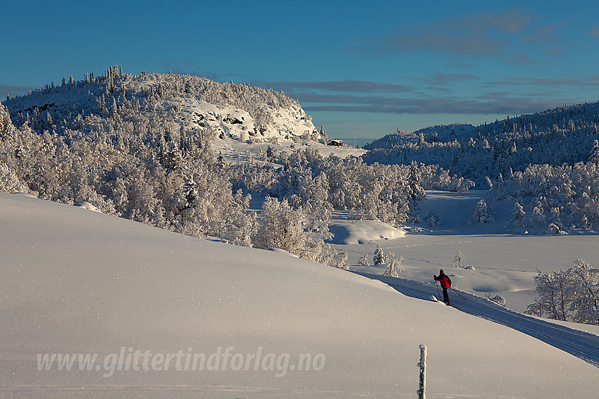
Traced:
<path fill-rule="evenodd" d="M 435 164 L 482 184 L 530 164 L 574 165 L 588 159 L 599 138 L 599 103 L 581 103 L 490 124 L 426 127 L 367 144 L 367 163 Z"/>

